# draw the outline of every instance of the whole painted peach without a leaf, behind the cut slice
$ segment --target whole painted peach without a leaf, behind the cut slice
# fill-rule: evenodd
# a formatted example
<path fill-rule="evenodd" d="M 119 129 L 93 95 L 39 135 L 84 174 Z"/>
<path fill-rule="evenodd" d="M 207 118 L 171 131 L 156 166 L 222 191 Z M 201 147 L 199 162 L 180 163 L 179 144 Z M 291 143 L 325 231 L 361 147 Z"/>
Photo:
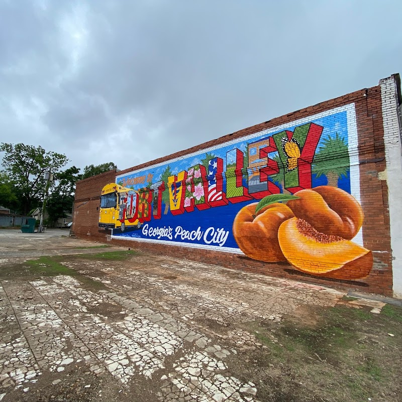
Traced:
<path fill-rule="evenodd" d="M 299 198 L 288 201 L 287 206 L 296 218 L 308 222 L 320 233 L 351 240 L 363 224 L 360 204 L 341 188 L 322 185 L 294 195 Z"/>

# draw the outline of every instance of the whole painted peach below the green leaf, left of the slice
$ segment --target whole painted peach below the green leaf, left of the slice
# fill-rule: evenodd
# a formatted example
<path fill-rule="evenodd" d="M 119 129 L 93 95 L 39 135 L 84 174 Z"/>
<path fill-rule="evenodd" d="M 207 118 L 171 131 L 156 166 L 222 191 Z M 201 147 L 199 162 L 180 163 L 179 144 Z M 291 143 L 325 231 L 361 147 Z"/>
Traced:
<path fill-rule="evenodd" d="M 284 204 L 268 205 L 255 214 L 258 203 L 242 208 L 233 221 L 233 236 L 244 254 L 255 260 L 285 261 L 278 242 L 279 226 L 293 218 Z"/>

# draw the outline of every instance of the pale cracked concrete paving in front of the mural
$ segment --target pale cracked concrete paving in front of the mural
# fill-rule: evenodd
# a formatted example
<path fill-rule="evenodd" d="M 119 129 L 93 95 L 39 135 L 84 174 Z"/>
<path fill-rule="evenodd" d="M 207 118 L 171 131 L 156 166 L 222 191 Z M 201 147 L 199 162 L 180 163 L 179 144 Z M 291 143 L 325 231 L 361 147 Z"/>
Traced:
<path fill-rule="evenodd" d="M 60 263 L 108 290 L 68 275 L 1 281 L 4 400 L 29 394 L 46 378 L 59 386 L 85 367 L 127 389 L 152 379 L 159 390 L 148 400 L 257 401 L 258 385 L 231 376 L 225 363 L 264 347 L 241 325 L 279 322 L 300 306 L 331 307 L 345 294 L 146 253 L 123 262 L 66 256 Z"/>

